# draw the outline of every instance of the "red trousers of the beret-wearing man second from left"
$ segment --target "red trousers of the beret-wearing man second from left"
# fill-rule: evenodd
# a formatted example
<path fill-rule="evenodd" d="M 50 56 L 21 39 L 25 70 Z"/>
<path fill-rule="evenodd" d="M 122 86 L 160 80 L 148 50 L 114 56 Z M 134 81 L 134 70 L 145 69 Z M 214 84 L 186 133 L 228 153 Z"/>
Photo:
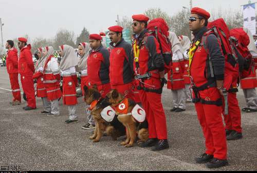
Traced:
<path fill-rule="evenodd" d="M 27 97 L 28 106 L 36 108 L 33 74 L 21 74 L 21 82 L 24 93 Z"/>

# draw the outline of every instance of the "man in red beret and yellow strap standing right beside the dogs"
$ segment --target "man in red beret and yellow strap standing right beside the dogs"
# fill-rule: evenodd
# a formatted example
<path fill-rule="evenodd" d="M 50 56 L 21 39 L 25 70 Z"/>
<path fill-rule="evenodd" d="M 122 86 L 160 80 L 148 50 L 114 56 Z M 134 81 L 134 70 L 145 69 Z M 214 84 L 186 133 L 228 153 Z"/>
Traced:
<path fill-rule="evenodd" d="M 164 83 L 164 60 L 157 39 L 146 29 L 149 17 L 133 15 L 133 58 L 137 87 L 149 124 L 149 140 L 140 147 L 153 151 L 169 148 L 166 116 L 161 103 Z"/>

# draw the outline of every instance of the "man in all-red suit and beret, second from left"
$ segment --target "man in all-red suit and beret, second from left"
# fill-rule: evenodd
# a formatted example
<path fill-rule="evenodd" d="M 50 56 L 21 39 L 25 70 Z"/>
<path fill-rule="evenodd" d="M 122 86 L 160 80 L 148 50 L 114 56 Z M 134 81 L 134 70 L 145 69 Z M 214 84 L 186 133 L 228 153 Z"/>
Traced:
<path fill-rule="evenodd" d="M 35 110 L 35 90 L 33 82 L 33 74 L 35 72 L 34 63 L 31 54 L 31 45 L 27 45 L 27 39 L 20 37 L 18 38 L 18 46 L 21 50 L 18 66 L 19 73 L 21 74 L 21 82 L 24 93 L 27 97 L 28 105 L 23 107 L 25 111 Z"/>

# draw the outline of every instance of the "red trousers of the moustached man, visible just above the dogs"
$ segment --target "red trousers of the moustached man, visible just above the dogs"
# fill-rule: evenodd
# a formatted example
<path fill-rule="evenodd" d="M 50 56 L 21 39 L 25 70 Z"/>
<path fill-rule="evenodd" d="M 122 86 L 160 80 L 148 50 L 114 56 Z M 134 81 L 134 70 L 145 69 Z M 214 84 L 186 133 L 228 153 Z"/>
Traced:
<path fill-rule="evenodd" d="M 132 91 L 133 88 L 134 88 L 133 83 L 111 85 L 112 90 L 116 89 L 120 94 L 123 94 L 126 98 L 129 98 L 135 101 L 134 92 Z"/>

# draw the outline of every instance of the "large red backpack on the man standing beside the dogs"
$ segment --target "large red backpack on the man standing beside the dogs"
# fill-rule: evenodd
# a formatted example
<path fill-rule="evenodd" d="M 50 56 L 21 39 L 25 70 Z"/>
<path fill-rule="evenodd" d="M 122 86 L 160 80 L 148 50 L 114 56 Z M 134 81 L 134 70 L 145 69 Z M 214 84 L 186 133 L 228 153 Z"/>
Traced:
<path fill-rule="evenodd" d="M 172 46 L 169 39 L 169 27 L 163 18 L 151 20 L 147 27 L 150 35 L 153 35 L 160 44 L 160 50 L 165 62 L 166 73 L 171 69 Z"/>

